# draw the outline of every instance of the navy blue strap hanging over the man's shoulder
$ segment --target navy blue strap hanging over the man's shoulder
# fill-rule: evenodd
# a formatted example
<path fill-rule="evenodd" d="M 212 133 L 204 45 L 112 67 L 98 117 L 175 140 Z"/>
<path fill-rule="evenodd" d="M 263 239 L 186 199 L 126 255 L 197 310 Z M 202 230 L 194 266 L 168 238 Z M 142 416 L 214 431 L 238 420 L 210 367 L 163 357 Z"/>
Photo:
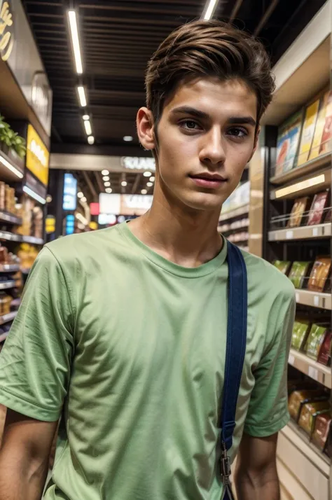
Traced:
<path fill-rule="evenodd" d="M 221 406 L 221 474 L 228 482 L 228 450 L 233 444 L 237 396 L 247 345 L 247 268 L 237 246 L 227 242 L 228 324 L 223 401 Z"/>

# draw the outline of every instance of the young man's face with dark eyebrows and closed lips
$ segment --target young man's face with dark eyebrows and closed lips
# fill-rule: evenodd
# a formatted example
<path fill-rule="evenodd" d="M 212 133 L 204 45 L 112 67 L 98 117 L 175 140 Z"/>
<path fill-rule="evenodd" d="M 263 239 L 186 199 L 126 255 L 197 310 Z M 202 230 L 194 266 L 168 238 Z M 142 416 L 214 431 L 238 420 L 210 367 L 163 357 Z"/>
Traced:
<path fill-rule="evenodd" d="M 158 123 L 162 192 L 191 209 L 219 209 L 254 151 L 256 113 L 256 95 L 242 81 L 179 85 Z"/>

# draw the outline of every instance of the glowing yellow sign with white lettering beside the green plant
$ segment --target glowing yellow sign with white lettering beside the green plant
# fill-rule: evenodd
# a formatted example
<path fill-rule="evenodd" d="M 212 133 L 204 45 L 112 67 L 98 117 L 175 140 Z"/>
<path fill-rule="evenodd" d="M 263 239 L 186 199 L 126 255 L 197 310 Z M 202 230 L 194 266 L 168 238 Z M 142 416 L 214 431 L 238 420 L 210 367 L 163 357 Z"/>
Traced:
<path fill-rule="evenodd" d="M 48 185 L 50 153 L 32 125 L 27 132 L 27 168 L 44 186 Z"/>

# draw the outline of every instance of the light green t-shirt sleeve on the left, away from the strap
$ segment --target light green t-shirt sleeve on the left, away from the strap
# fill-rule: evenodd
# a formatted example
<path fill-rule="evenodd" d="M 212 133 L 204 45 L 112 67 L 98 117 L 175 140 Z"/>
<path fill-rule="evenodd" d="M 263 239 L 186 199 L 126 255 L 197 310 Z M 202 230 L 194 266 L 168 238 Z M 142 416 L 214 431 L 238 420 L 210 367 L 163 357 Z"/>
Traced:
<path fill-rule="evenodd" d="M 0 354 L 0 403 L 28 417 L 55 422 L 69 386 L 73 331 L 64 274 L 45 247 Z"/>

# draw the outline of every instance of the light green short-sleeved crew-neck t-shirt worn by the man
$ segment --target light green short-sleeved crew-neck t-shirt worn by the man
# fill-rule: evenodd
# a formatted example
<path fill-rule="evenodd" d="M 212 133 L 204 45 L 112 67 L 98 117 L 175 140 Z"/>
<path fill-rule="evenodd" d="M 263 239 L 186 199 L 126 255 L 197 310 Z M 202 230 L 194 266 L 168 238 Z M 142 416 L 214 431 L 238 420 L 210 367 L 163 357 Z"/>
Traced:
<path fill-rule="evenodd" d="M 184 268 L 123 223 L 41 251 L 0 355 L 0 403 L 63 429 L 47 500 L 220 500 L 218 421 L 227 326 L 227 246 Z M 293 285 L 244 253 L 247 352 L 242 432 L 289 419 Z"/>

